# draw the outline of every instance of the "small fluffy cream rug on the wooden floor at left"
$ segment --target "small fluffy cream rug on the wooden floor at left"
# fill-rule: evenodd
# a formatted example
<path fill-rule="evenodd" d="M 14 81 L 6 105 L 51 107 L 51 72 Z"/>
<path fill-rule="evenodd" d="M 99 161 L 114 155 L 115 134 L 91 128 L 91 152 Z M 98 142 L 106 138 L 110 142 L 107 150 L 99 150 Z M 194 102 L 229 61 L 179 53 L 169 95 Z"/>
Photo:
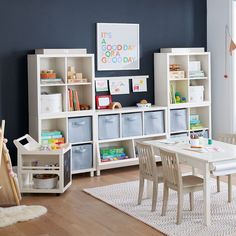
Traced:
<path fill-rule="evenodd" d="M 47 212 L 43 206 L 14 206 L 0 208 L 0 227 L 15 224 L 20 221 L 27 221 L 39 217 Z"/>

